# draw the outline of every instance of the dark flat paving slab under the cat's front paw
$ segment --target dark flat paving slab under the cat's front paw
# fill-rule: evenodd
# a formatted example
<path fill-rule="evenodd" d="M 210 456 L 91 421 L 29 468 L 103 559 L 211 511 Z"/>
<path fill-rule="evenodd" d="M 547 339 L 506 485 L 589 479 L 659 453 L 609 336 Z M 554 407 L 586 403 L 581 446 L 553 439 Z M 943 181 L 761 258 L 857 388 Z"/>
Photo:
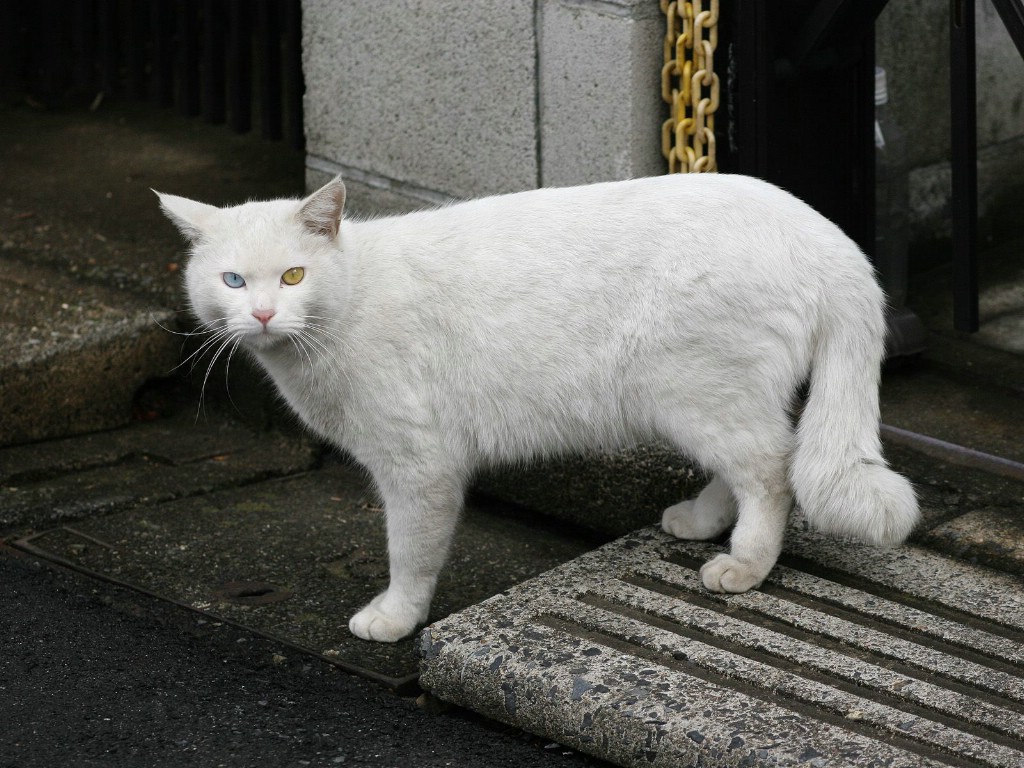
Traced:
<path fill-rule="evenodd" d="M 433 615 L 471 605 L 595 546 L 517 510 L 471 504 Z M 15 540 L 42 557 L 233 622 L 402 687 L 415 641 L 359 640 L 348 618 L 387 586 L 387 545 L 365 475 L 316 472 L 147 504 Z"/>

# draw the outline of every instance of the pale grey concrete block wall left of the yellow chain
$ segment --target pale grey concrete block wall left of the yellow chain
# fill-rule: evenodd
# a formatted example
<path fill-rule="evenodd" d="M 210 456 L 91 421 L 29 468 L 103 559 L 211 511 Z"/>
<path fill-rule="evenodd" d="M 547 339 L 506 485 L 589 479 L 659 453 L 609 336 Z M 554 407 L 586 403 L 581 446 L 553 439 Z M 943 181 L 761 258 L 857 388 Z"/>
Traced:
<path fill-rule="evenodd" d="M 663 172 L 657 2 L 305 0 L 303 17 L 310 184 L 437 201 Z"/>

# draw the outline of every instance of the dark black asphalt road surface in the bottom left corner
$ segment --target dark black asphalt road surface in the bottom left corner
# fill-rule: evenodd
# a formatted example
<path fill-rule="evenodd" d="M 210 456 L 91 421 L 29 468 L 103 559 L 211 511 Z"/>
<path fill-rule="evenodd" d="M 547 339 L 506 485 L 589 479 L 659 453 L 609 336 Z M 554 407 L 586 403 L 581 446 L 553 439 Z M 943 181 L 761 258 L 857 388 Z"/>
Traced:
<path fill-rule="evenodd" d="M 0 765 L 600 765 L 0 548 Z"/>

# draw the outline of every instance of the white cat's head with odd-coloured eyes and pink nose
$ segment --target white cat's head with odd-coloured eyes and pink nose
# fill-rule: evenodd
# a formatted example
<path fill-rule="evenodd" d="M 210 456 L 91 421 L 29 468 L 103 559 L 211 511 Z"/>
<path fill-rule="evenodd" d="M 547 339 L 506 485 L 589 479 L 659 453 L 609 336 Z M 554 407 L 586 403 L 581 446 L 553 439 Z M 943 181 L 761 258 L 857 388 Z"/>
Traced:
<path fill-rule="evenodd" d="M 230 208 L 157 196 L 191 245 L 185 290 L 204 330 L 267 349 L 323 327 L 336 309 L 343 292 L 337 241 L 345 186 L 340 177 L 305 200 Z"/>

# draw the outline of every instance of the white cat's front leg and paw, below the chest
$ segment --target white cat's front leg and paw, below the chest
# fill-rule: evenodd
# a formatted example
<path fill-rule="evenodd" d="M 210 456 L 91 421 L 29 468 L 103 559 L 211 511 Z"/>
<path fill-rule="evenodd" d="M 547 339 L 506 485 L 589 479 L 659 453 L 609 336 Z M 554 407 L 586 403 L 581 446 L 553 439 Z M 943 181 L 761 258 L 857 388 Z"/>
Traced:
<path fill-rule="evenodd" d="M 464 487 L 455 478 L 378 482 L 387 520 L 390 583 L 348 623 L 364 640 L 395 642 L 427 621 L 447 559 Z"/>

